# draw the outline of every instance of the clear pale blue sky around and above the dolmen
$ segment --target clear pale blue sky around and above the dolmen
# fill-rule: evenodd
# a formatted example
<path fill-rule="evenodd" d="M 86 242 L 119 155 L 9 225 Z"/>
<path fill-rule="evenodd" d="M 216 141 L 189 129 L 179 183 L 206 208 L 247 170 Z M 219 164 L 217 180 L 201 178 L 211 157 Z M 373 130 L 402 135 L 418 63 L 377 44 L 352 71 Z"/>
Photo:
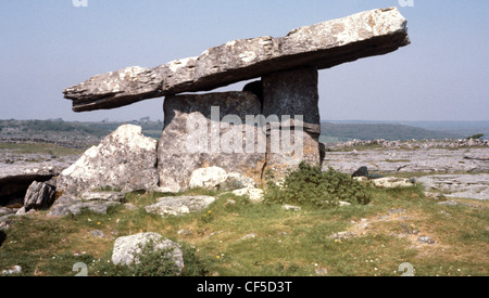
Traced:
<path fill-rule="evenodd" d="M 163 99 L 76 114 L 62 90 L 229 40 L 399 7 L 412 44 L 319 73 L 322 119 L 489 120 L 489 1 L 1 0 L 0 119 L 162 119 Z M 220 90 L 240 90 L 242 83 Z"/>

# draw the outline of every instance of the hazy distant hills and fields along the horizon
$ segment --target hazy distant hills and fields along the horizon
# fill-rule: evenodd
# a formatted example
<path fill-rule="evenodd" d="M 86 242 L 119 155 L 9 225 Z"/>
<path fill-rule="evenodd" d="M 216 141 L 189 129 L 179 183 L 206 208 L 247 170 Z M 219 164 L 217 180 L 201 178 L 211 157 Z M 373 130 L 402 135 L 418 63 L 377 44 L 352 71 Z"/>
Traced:
<path fill-rule="evenodd" d="M 124 124 L 140 126 L 145 135 L 158 139 L 163 129 L 162 121 L 127 122 L 70 122 L 59 120 L 0 120 L 2 139 L 27 138 L 60 142 L 98 143 Z M 489 137 L 488 122 L 369 122 L 369 121 L 323 121 L 321 141 L 337 143 L 356 140 L 384 139 L 424 140 L 463 139 L 476 133 Z"/>

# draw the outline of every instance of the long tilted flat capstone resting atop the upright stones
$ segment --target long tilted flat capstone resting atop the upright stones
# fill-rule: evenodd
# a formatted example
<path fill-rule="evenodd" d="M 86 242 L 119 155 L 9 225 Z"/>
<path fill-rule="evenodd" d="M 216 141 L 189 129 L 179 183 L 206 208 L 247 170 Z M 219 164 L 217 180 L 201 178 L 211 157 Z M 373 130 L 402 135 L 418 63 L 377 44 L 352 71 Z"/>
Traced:
<path fill-rule="evenodd" d="M 386 54 L 410 43 L 396 8 L 373 10 L 290 31 L 285 37 L 229 41 L 154 67 L 127 67 L 65 89 L 75 112 L 114 108 L 145 99 L 206 91 L 268 74 L 314 66 L 329 68 Z"/>

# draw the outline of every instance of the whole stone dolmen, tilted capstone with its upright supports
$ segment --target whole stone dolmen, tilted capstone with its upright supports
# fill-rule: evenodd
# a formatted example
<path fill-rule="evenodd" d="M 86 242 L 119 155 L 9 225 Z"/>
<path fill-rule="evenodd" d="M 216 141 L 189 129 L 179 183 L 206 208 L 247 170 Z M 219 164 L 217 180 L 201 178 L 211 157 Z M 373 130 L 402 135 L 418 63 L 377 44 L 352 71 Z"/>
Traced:
<path fill-rule="evenodd" d="M 186 190 L 192 172 L 208 167 L 260 183 L 268 170 L 278 179 L 303 160 L 322 163 L 318 70 L 408 44 L 406 20 L 398 9 L 378 9 L 285 37 L 229 41 L 153 68 L 97 75 L 63 93 L 74 112 L 164 96 L 164 128 L 154 165 L 147 164 L 159 187 Z M 253 79 L 242 91 L 210 92 Z"/>

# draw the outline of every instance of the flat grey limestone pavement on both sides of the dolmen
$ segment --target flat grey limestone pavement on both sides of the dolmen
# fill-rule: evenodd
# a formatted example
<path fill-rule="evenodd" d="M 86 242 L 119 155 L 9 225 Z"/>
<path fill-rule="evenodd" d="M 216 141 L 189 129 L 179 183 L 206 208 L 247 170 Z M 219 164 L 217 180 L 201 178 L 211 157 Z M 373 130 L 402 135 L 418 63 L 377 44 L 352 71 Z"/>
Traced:
<path fill-rule="evenodd" d="M 489 199 L 489 147 L 484 144 L 373 141 L 327 147 L 325 170 L 333 167 L 353 173 L 367 167 L 374 174 L 415 178 L 428 192 L 442 193 L 447 197 Z M 0 150 L 0 193 L 8 194 L 8 205 L 14 204 L 18 187 L 28 186 L 33 179 L 48 181 L 57 177 L 78 157 L 79 154 L 53 156 Z M 18 203 L 21 200 L 18 197 Z"/>

